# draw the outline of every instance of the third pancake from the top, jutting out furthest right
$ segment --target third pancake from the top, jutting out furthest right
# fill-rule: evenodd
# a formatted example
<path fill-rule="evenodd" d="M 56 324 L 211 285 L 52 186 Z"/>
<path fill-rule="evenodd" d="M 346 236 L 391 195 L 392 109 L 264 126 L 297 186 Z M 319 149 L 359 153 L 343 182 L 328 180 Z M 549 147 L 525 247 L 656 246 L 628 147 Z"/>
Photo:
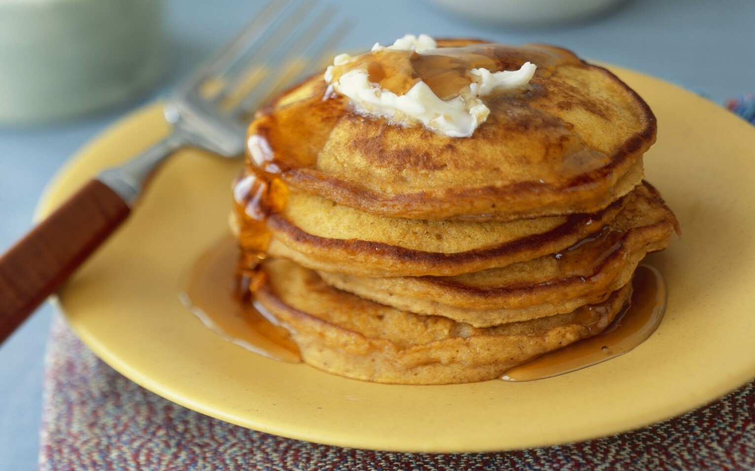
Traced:
<path fill-rule="evenodd" d="M 319 275 L 328 285 L 377 303 L 476 327 L 571 312 L 626 285 L 639 261 L 665 248 L 677 229 L 673 213 L 649 184 L 627 199 L 598 234 L 558 254 L 504 268 L 444 277 Z"/>

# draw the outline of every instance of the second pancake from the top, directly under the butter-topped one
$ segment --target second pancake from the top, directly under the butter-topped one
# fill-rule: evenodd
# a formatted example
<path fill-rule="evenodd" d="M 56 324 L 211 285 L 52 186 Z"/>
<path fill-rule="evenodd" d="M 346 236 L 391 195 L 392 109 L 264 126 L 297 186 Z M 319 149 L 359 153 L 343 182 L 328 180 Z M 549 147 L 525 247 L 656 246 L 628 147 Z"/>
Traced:
<path fill-rule="evenodd" d="M 567 248 L 598 232 L 623 206 L 621 199 L 595 214 L 505 223 L 412 220 L 291 192 L 285 209 L 268 217 L 267 253 L 310 269 L 356 276 L 452 276 Z M 245 233 L 251 232 L 252 239 L 255 234 L 254 229 L 246 229 L 248 216 L 232 225 L 245 248 Z"/>

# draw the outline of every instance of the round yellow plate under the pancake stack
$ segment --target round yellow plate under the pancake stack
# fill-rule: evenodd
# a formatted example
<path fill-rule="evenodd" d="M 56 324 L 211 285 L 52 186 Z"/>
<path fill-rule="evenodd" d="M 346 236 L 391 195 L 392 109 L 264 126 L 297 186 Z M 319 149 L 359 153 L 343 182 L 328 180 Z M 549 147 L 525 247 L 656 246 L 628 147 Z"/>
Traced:
<path fill-rule="evenodd" d="M 627 355 L 531 383 L 385 386 L 257 356 L 208 331 L 178 300 L 193 262 L 227 234 L 240 162 L 199 152 L 162 168 L 126 225 L 60 294 L 79 337 L 147 389 L 267 433 L 393 451 L 495 451 L 606 436 L 704 405 L 755 377 L 755 130 L 707 100 L 618 70 L 658 116 L 648 179 L 683 239 L 652 257 L 668 283 L 658 331 Z M 50 211 L 100 168 L 167 132 L 149 106 L 60 172 Z"/>

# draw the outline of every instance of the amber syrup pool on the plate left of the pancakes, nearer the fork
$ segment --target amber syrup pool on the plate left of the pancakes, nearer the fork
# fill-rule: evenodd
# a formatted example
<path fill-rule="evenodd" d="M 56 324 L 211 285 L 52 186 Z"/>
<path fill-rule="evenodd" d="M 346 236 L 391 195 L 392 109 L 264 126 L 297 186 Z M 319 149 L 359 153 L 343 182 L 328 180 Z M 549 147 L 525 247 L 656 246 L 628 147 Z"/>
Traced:
<path fill-rule="evenodd" d="M 197 260 L 180 299 L 212 331 L 251 352 L 282 362 L 300 362 L 285 327 L 249 298 L 256 272 L 237 272 L 239 248 L 225 239 Z"/>

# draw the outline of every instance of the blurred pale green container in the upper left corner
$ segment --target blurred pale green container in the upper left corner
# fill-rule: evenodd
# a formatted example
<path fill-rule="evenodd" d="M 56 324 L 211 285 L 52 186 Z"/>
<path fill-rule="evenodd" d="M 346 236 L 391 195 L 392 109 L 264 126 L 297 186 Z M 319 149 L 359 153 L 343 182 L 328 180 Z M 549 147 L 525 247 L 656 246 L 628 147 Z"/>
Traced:
<path fill-rule="evenodd" d="M 117 106 L 164 69 L 160 0 L 0 0 L 0 125 Z"/>

